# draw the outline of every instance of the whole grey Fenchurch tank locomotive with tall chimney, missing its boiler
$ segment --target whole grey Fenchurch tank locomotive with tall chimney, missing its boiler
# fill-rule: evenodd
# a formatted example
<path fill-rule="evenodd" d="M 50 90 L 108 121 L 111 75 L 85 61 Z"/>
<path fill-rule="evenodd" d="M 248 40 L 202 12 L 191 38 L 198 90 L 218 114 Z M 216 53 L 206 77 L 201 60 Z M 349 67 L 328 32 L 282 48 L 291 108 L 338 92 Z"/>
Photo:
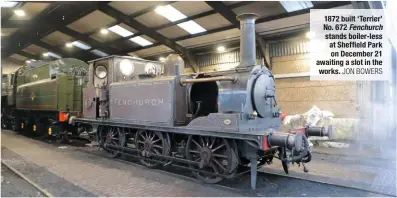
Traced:
<path fill-rule="evenodd" d="M 175 165 L 216 183 L 280 159 L 311 160 L 305 133 L 281 132 L 274 77 L 255 61 L 255 14 L 241 22 L 241 63 L 228 71 L 183 74 L 178 55 L 160 63 L 111 56 L 90 62 L 84 117 L 93 140 L 112 157 L 140 159 L 145 166 Z M 316 133 L 311 133 L 315 135 Z M 321 135 L 325 133 L 319 133 Z M 182 164 L 182 165 L 181 165 Z"/>

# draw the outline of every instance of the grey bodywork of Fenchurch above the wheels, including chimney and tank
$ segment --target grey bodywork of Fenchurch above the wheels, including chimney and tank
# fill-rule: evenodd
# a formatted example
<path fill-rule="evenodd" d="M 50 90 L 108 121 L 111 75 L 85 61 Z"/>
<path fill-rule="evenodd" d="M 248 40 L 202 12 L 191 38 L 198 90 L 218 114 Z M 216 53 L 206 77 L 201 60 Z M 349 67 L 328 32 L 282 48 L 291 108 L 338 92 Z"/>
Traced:
<path fill-rule="evenodd" d="M 166 65 L 171 68 L 167 68 L 165 75 L 155 74 L 149 78 L 147 76 L 140 78 L 140 74 L 147 73 L 142 68 L 148 61 L 110 56 L 91 62 L 90 72 L 94 72 L 95 66 L 99 63 L 105 65 L 109 72 L 107 84 L 102 86 L 102 89 L 109 90 L 109 101 L 108 104 L 99 105 L 100 109 L 109 107 L 109 117 L 100 117 L 101 121 L 98 118 L 92 121 L 97 124 L 123 125 L 124 123 L 126 126 L 160 131 L 167 129 L 168 132 L 185 134 L 221 136 L 219 133 L 224 133 L 229 138 L 234 136 L 244 139 L 243 137 L 247 135 L 248 139 L 256 138 L 262 146 L 261 137 L 280 128 L 281 119 L 278 115 L 279 108 L 274 100 L 273 75 L 266 67 L 255 66 L 255 16 L 246 15 L 241 19 L 243 20 L 241 28 L 246 34 L 241 37 L 243 50 L 241 64 L 228 71 L 204 73 L 204 78 L 237 77 L 237 81 L 217 82 L 218 112 L 195 118 L 186 122 L 185 126 L 176 127 L 178 124 L 183 124 L 185 120 L 189 120 L 186 109 L 190 86 L 182 86 L 179 78 L 197 78 L 198 76 L 179 77 L 180 72 L 175 71 L 183 66 L 183 61 L 178 57 L 170 56 Z M 125 77 L 120 73 L 118 62 L 122 59 L 137 61 L 134 63 L 134 73 L 131 76 Z M 96 76 L 92 78 L 93 82 L 98 80 Z M 87 95 L 91 94 L 92 91 L 90 94 L 87 93 Z"/>

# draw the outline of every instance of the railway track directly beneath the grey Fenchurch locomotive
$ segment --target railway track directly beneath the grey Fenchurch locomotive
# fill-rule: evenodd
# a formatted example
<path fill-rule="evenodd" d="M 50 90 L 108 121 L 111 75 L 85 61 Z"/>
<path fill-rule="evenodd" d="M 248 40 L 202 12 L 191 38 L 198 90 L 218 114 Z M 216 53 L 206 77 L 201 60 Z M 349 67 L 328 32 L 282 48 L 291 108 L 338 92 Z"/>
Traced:
<path fill-rule="evenodd" d="M 57 144 L 54 141 L 48 141 L 38 137 L 35 137 L 34 139 L 44 141 L 46 143 L 55 145 L 57 147 L 67 146 L 69 147 L 69 149 L 73 149 L 76 151 L 85 152 L 99 157 L 110 158 L 109 156 L 106 155 L 105 152 L 99 150 L 98 148 L 85 146 L 86 141 L 73 140 L 71 144 Z M 121 163 L 147 169 L 147 167 L 139 163 L 139 160 L 129 156 L 122 156 L 120 158 L 115 158 L 112 160 L 116 160 Z M 202 185 L 207 185 L 222 190 L 232 191 L 235 192 L 236 194 L 241 194 L 243 196 L 319 196 L 318 194 L 310 195 L 310 192 L 316 192 L 316 191 L 320 192 L 321 196 L 331 196 L 329 193 L 327 193 L 327 191 L 331 191 L 330 193 L 334 193 L 335 191 L 348 192 L 347 194 L 341 193 L 336 196 L 347 196 L 347 195 L 368 196 L 366 195 L 368 193 L 372 194 L 372 196 L 386 195 L 373 191 L 365 191 L 363 189 L 358 190 L 354 188 L 348 188 L 348 187 L 338 186 L 324 182 L 310 181 L 308 179 L 292 178 L 288 175 L 269 174 L 260 171 L 258 171 L 258 181 L 257 181 L 256 190 L 252 190 L 250 188 L 249 174 L 245 174 L 234 179 L 226 179 L 218 184 L 205 184 L 197 180 L 195 177 L 193 177 L 191 171 L 189 170 L 182 170 L 175 167 L 166 166 L 160 169 L 151 169 L 151 171 L 156 171 L 162 174 L 168 174 L 182 179 L 198 182 L 201 183 Z M 285 194 L 285 192 L 290 192 L 295 194 L 294 195 Z M 386 196 L 390 196 L 390 195 L 386 195 Z"/>

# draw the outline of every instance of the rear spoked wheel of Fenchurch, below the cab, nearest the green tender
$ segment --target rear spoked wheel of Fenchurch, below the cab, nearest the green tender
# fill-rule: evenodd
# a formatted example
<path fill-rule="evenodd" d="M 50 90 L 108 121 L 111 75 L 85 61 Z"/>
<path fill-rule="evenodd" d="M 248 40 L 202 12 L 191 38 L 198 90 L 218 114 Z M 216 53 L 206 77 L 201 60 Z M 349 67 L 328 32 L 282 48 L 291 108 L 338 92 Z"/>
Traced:
<path fill-rule="evenodd" d="M 118 149 L 109 148 L 110 145 L 122 147 L 125 144 L 124 133 L 120 127 L 100 127 L 99 145 L 110 154 L 109 157 L 119 157 L 121 152 Z"/>

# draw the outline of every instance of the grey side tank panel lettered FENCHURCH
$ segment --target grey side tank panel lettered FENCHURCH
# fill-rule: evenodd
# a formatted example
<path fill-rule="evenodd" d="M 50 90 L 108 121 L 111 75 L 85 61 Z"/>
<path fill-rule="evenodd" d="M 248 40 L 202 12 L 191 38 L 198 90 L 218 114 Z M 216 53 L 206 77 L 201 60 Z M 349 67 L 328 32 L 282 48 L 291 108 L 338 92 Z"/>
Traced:
<path fill-rule="evenodd" d="M 110 118 L 172 124 L 175 110 L 172 105 L 173 82 L 173 79 L 153 79 L 111 84 Z"/>

